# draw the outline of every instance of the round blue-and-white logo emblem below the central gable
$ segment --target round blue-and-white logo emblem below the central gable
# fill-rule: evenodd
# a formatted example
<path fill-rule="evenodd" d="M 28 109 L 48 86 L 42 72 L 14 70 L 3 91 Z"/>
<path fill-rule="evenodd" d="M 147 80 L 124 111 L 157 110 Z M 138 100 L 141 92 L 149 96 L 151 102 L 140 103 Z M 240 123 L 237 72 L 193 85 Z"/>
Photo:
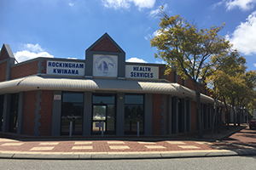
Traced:
<path fill-rule="evenodd" d="M 116 71 L 116 62 L 111 56 L 99 56 L 94 66 L 96 72 L 102 76 L 111 76 Z"/>

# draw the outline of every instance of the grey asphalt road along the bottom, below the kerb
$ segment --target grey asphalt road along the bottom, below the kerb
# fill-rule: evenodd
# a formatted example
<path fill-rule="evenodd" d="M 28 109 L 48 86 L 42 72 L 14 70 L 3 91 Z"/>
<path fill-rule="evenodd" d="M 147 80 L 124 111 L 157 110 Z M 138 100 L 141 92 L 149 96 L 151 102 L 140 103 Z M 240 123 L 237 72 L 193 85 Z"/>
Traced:
<path fill-rule="evenodd" d="M 206 158 L 152 159 L 152 160 L 0 160 L 0 169 L 256 169 L 256 156 L 225 156 Z"/>

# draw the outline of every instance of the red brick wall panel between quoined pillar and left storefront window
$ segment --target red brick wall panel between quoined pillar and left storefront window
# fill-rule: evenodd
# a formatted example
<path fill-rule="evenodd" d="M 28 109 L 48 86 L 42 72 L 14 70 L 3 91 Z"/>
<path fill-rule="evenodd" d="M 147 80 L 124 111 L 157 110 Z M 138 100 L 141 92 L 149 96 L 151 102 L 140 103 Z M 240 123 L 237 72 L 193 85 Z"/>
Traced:
<path fill-rule="evenodd" d="M 40 96 L 42 99 L 42 102 L 40 103 L 41 111 L 39 112 L 41 115 L 41 118 L 39 119 L 39 122 L 41 123 L 41 126 L 39 127 L 40 136 L 51 135 L 53 95 L 53 91 L 43 90 L 43 93 Z"/>

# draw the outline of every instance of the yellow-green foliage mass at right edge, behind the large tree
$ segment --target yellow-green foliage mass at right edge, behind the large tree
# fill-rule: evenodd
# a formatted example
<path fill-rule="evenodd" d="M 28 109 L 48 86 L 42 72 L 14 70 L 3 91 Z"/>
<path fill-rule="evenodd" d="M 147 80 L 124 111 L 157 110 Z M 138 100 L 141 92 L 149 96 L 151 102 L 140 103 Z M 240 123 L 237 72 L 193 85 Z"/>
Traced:
<path fill-rule="evenodd" d="M 256 73 L 246 69 L 246 59 L 235 50 L 218 60 L 207 77 L 208 85 L 215 88 L 213 94 L 224 101 L 226 110 L 228 104 L 255 108 Z"/>

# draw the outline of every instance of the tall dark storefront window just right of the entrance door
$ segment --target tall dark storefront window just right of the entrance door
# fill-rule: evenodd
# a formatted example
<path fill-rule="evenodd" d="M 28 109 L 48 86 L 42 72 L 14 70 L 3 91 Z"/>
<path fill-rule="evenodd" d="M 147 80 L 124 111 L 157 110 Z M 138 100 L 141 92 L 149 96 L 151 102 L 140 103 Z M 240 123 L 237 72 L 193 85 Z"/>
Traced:
<path fill-rule="evenodd" d="M 144 97 L 143 95 L 125 95 L 125 134 L 137 133 L 137 122 L 139 132 L 144 132 Z"/>

